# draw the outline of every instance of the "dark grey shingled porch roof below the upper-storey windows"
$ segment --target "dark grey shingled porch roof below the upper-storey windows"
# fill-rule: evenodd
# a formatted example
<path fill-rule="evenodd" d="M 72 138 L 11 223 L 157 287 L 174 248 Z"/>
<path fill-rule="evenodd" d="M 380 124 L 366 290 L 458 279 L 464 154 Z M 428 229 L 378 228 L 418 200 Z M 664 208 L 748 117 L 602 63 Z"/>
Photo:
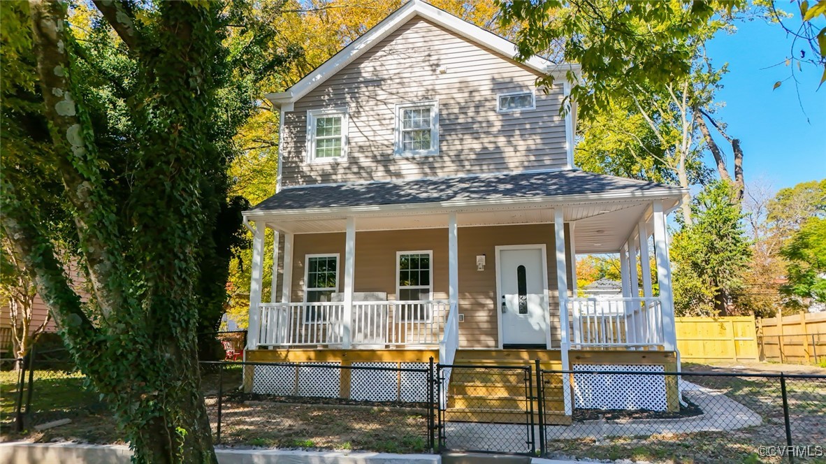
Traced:
<path fill-rule="evenodd" d="M 289 187 L 262 201 L 252 211 L 634 193 L 662 189 L 677 191 L 679 187 L 580 170 L 506 173 Z"/>

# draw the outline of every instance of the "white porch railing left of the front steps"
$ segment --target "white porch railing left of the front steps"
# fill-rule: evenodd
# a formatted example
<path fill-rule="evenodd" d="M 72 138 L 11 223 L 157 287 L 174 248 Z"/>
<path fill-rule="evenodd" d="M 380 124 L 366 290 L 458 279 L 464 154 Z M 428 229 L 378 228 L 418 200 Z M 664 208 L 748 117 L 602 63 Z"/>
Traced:
<path fill-rule="evenodd" d="M 261 303 L 259 345 L 330 346 L 344 342 L 344 303 Z M 448 318 L 447 300 L 354 301 L 354 346 L 433 346 Z"/>

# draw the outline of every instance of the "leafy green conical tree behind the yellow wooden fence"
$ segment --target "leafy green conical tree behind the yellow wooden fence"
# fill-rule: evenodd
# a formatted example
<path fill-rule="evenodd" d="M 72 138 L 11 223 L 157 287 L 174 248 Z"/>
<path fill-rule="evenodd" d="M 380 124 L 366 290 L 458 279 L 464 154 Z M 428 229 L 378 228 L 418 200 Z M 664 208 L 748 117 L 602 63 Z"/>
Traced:
<path fill-rule="evenodd" d="M 736 196 L 729 182 L 711 182 L 691 202 L 691 224 L 682 224 L 672 237 L 674 306 L 679 315 L 736 312 L 751 257 Z"/>

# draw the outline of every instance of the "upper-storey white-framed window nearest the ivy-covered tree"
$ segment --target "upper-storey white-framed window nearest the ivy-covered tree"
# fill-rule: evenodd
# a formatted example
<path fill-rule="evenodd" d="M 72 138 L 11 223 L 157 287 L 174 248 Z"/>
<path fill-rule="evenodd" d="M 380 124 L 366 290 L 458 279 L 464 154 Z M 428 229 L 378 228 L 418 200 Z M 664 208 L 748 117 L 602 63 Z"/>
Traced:
<path fill-rule="evenodd" d="M 347 158 L 347 110 L 307 111 L 307 161 L 324 163 Z"/>

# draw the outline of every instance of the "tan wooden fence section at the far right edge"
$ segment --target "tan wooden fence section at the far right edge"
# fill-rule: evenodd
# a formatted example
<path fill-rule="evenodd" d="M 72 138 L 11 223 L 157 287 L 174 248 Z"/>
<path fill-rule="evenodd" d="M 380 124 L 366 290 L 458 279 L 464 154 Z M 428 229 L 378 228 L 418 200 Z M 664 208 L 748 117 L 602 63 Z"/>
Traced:
<path fill-rule="evenodd" d="M 826 359 L 826 313 L 759 319 L 757 340 L 766 361 L 819 363 Z"/>

